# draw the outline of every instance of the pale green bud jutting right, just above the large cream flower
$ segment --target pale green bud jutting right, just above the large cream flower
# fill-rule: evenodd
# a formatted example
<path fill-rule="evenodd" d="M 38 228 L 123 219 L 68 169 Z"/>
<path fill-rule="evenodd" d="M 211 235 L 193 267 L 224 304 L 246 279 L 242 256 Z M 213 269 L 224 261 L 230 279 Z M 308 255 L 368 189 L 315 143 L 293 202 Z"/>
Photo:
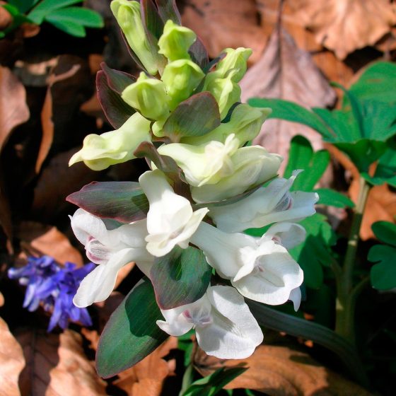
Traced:
<path fill-rule="evenodd" d="M 197 137 L 183 137 L 181 142 L 197 146 L 213 140 L 224 142 L 227 136 L 235 134 L 235 138 L 239 141 L 239 146 L 243 146 L 247 141 L 255 139 L 260 132 L 262 123 L 270 113 L 271 109 L 267 107 L 251 107 L 241 103 L 233 110 L 230 121 L 220 124 L 219 127 L 213 129 L 209 134 Z"/>

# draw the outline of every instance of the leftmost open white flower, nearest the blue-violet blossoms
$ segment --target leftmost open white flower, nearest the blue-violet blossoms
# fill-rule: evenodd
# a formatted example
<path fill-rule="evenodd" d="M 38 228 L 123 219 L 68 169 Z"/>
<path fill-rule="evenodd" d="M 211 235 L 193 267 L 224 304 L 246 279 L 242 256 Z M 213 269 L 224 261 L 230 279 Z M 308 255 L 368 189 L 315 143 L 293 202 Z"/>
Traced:
<path fill-rule="evenodd" d="M 99 217 L 77 209 L 71 217 L 71 228 L 85 246 L 88 259 L 99 264 L 81 281 L 74 305 L 86 307 L 104 301 L 114 289 L 118 272 L 129 262 L 136 262 L 149 274 L 154 257 L 146 250 L 146 219 L 107 230 Z"/>

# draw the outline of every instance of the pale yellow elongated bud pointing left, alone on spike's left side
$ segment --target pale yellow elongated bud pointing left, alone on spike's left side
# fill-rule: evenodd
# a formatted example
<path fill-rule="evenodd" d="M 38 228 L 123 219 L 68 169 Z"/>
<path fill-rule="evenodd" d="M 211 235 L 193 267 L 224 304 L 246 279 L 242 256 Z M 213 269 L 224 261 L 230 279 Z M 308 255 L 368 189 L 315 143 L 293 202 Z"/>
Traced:
<path fill-rule="evenodd" d="M 136 112 L 119 129 L 91 134 L 83 148 L 70 158 L 69 166 L 83 161 L 92 170 L 103 170 L 115 163 L 129 161 L 142 141 L 150 141 L 150 122 Z"/>

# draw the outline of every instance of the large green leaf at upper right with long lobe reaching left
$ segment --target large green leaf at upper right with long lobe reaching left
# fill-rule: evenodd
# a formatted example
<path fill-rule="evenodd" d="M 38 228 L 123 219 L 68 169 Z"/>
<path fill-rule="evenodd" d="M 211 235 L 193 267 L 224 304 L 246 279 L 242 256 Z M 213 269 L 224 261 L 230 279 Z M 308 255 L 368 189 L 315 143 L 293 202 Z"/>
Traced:
<path fill-rule="evenodd" d="M 377 85 L 378 84 L 378 85 Z M 359 81 L 344 91 L 341 110 L 313 108 L 312 111 L 281 99 L 251 99 L 250 105 L 271 107 L 269 118 L 279 118 L 305 124 L 318 131 L 325 141 L 347 153 L 361 173 L 375 161 L 382 166 L 378 178 L 366 180 L 395 183 L 395 165 L 385 168 L 389 162 L 395 164 L 395 150 L 387 150 L 387 144 L 396 133 L 395 65 L 380 62 L 368 68 Z M 375 87 L 375 88 L 373 88 Z M 385 91 L 385 97 L 380 98 Z M 385 168 L 385 169 L 384 169 Z"/>

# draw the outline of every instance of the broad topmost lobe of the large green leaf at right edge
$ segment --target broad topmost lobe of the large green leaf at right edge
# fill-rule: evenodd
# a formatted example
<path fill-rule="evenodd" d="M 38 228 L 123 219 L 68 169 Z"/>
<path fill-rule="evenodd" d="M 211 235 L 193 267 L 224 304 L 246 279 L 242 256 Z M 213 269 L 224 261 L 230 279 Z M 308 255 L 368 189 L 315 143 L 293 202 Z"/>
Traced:
<path fill-rule="evenodd" d="M 396 102 L 396 64 L 375 62 L 367 67 L 350 91 L 361 100 L 378 100 L 388 105 Z"/>

